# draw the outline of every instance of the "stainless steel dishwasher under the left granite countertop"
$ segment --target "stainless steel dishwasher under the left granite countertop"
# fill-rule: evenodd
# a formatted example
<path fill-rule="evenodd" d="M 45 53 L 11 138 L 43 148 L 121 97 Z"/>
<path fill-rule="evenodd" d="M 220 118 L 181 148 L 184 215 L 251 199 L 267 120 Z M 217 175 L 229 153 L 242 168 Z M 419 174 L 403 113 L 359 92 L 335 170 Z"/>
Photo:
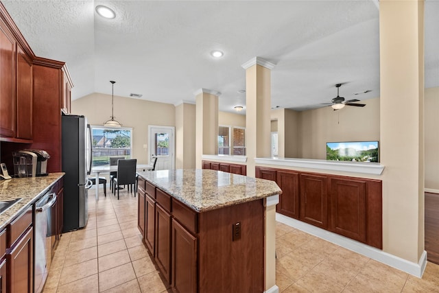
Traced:
<path fill-rule="evenodd" d="M 35 204 L 35 289 L 34 292 L 43 291 L 51 263 L 51 206 L 56 202 L 56 194 L 47 192 Z"/>

